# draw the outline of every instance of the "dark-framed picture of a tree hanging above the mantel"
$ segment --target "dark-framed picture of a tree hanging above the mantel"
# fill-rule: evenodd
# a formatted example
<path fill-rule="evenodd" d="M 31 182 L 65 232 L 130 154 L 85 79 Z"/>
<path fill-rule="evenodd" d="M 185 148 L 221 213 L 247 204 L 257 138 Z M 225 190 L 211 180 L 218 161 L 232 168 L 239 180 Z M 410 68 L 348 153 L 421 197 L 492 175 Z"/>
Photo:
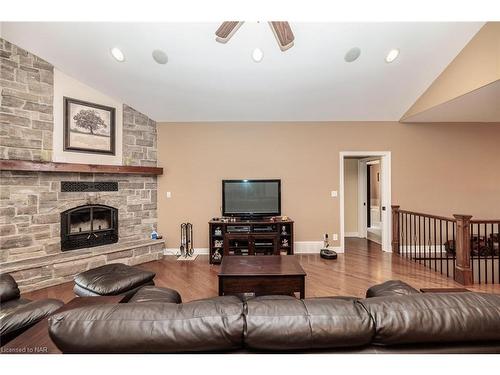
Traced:
<path fill-rule="evenodd" d="M 115 155 L 115 108 L 64 97 L 64 151 Z"/>

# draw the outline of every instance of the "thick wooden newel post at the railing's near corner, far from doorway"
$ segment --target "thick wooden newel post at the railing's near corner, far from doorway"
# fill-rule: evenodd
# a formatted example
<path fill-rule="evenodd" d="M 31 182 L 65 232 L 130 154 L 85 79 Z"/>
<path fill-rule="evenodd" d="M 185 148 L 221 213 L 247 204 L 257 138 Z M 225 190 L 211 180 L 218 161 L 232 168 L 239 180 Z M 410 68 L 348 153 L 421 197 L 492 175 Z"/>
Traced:
<path fill-rule="evenodd" d="M 470 265 L 470 215 L 453 215 L 457 222 L 455 281 L 462 285 L 474 282 Z"/>

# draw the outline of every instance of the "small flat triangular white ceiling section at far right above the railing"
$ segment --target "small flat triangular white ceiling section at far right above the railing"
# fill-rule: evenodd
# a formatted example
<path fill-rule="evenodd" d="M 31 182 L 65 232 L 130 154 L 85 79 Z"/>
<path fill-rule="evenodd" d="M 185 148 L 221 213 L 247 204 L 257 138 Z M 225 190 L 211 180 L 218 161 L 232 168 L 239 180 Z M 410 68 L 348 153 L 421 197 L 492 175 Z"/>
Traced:
<path fill-rule="evenodd" d="M 500 80 L 419 112 L 403 122 L 500 122 Z"/>

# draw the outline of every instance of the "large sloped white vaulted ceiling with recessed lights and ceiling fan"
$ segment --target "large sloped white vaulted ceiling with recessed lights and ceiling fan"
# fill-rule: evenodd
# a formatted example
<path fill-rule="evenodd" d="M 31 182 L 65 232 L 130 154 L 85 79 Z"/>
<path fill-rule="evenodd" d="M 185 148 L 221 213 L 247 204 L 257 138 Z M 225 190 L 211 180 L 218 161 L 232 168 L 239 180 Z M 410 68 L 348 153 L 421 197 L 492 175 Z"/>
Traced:
<path fill-rule="evenodd" d="M 266 22 L 245 23 L 227 44 L 215 41 L 218 25 L 17 22 L 2 33 L 157 121 L 397 121 L 483 23 L 291 22 L 286 52 Z M 126 62 L 111 58 L 114 46 Z M 356 46 L 360 58 L 344 62 Z M 401 54 L 387 64 L 391 48 Z"/>

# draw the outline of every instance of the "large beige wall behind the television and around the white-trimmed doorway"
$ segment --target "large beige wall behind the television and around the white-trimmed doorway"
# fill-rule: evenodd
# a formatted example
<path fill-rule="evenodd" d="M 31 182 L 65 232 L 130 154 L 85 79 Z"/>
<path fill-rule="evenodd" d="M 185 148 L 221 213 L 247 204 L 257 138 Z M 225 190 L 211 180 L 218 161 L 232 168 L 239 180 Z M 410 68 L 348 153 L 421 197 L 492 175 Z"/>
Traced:
<path fill-rule="evenodd" d="M 225 178 L 281 178 L 296 241 L 339 233 L 330 191 L 339 189 L 340 151 L 391 151 L 392 202 L 405 209 L 500 217 L 500 123 L 164 123 L 158 133 L 159 231 L 168 247 L 179 246 L 183 221 L 194 224 L 195 247 L 207 247 Z"/>

